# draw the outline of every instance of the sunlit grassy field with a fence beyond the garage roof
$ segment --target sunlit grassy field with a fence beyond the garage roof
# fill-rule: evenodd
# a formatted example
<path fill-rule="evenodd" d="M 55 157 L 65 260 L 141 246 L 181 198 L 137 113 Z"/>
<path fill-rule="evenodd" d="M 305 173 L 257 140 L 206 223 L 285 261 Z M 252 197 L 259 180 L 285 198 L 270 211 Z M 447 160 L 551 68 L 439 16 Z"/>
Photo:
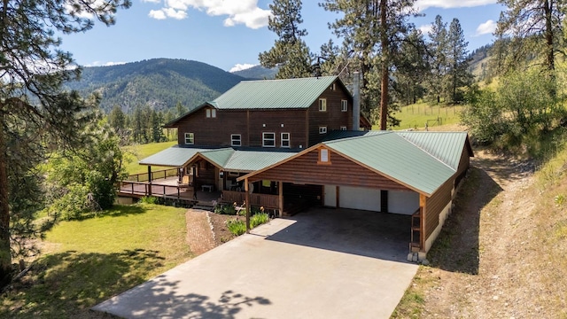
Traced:
<path fill-rule="evenodd" d="M 394 117 L 401 121 L 400 126 L 394 129 L 417 128 L 423 130 L 425 122 L 429 127 L 456 124 L 461 121 L 459 113 L 461 113 L 463 107 L 462 105 L 430 106 L 427 103 L 402 106 L 401 111 L 394 114 Z M 374 126 L 373 129 L 379 129 L 379 127 Z"/>

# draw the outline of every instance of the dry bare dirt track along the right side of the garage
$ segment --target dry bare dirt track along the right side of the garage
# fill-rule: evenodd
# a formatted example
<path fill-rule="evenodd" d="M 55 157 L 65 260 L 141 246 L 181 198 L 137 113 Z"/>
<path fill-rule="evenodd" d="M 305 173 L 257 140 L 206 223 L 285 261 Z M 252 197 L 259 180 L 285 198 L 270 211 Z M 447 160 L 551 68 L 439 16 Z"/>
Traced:
<path fill-rule="evenodd" d="M 542 240 L 533 171 L 528 161 L 475 152 L 431 266 L 419 268 L 394 317 L 567 317 L 564 284 L 548 280 L 557 246 Z"/>

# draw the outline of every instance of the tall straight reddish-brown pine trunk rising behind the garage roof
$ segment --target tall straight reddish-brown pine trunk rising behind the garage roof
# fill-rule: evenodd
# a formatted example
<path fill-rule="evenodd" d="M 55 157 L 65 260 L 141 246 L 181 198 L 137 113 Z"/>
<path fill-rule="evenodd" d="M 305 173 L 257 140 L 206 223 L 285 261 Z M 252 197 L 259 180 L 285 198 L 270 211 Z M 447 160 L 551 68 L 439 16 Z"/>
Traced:
<path fill-rule="evenodd" d="M 380 0 L 380 46 L 382 48 L 382 79 L 380 85 L 380 129 L 385 130 L 388 121 L 389 43 L 386 0 Z"/>

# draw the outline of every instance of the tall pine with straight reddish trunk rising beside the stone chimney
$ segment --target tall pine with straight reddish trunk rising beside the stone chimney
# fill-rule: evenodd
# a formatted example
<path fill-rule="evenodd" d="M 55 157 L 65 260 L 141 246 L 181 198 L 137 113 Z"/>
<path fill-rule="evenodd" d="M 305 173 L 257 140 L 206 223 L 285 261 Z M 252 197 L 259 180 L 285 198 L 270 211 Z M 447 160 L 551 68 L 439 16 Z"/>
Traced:
<path fill-rule="evenodd" d="M 343 39 L 342 51 L 354 59 L 353 67 L 361 71 L 362 112 L 372 115 L 380 105 L 380 129 L 386 129 L 391 113 L 390 72 L 396 63 L 392 53 L 414 28 L 408 23 L 413 4 L 413 0 L 325 0 L 320 4 L 342 14 L 330 28 Z"/>

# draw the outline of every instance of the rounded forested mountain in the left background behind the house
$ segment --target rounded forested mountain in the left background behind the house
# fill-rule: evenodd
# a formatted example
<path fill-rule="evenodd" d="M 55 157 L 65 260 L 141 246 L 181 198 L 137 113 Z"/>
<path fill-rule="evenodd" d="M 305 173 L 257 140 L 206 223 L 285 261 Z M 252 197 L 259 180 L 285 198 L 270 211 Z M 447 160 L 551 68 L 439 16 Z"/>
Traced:
<path fill-rule="evenodd" d="M 82 95 L 98 92 L 105 112 L 120 105 L 123 112 L 131 113 L 136 105 L 160 111 L 180 102 L 192 108 L 242 80 L 242 76 L 202 62 L 154 58 L 119 66 L 85 67 L 81 81 L 67 82 L 66 88 L 77 89 Z"/>

